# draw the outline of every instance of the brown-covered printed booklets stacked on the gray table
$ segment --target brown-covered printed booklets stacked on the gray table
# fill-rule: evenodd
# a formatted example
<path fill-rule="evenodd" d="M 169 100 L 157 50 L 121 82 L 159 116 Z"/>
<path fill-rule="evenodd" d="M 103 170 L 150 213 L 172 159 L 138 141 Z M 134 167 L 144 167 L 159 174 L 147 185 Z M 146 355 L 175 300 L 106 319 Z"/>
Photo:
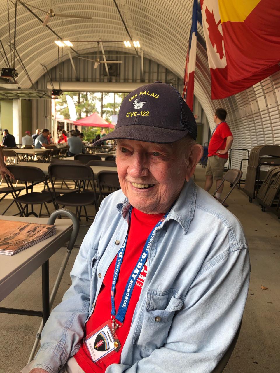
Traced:
<path fill-rule="evenodd" d="M 55 235 L 54 225 L 0 221 L 2 238 L 0 239 L 0 254 L 13 255 L 35 245 L 50 236 Z"/>

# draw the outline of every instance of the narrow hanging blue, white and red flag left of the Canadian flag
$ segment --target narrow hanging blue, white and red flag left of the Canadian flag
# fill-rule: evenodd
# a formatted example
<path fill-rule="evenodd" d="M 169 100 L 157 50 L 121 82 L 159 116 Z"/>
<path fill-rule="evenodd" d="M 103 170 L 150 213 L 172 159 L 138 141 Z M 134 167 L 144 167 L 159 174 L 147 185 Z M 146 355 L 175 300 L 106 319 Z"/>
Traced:
<path fill-rule="evenodd" d="M 186 57 L 183 98 L 190 110 L 193 110 L 193 89 L 195 85 L 197 35 L 197 0 L 193 1 L 192 26 L 190 29 L 189 46 Z"/>

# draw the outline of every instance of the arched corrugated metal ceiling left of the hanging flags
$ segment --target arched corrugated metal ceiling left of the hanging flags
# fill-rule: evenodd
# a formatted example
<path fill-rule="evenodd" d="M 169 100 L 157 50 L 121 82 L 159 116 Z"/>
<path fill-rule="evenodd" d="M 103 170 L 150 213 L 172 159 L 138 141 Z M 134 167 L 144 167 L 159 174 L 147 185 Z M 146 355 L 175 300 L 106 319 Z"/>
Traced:
<path fill-rule="evenodd" d="M 26 1 L 27 5 L 48 10 L 50 1 Z M 55 17 L 48 25 L 64 40 L 128 40 L 128 35 L 122 24 L 113 0 L 68 0 L 53 1 L 53 9 L 57 13 L 91 16 L 91 20 L 66 19 Z M 117 0 L 125 23 L 134 40 L 139 40 L 144 56 L 161 63 L 176 75 L 183 78 L 184 64 L 187 53 L 189 28 L 191 19 L 191 0 L 151 1 L 151 0 Z M 13 43 L 14 2 L 9 1 L 10 26 Z M 42 20 L 45 14 L 31 8 Z M 1 10 L 1 40 L 10 59 L 9 27 L 7 1 L 0 0 Z M 17 8 L 16 48 L 32 79 L 37 79 L 44 73 L 40 62 L 48 68 L 57 64 L 57 47 L 54 41 L 57 37 L 38 21 L 20 3 Z M 202 28 L 200 27 L 200 33 Z M 105 50 L 124 50 L 123 43 L 104 43 Z M 74 43 L 78 53 L 96 50 L 96 45 Z M 133 48 L 130 48 L 134 52 Z M 63 52 L 64 54 L 66 51 Z M 72 56 L 75 55 L 71 51 Z M 65 56 L 66 57 L 66 56 Z M 1 58 L 1 57 L 0 57 Z M 69 57 L 67 57 L 69 58 Z M 3 61 L 0 62 L 4 66 Z M 16 63 L 18 66 L 19 63 Z M 30 82 L 18 67 L 18 82 L 22 88 L 30 87 Z"/>

